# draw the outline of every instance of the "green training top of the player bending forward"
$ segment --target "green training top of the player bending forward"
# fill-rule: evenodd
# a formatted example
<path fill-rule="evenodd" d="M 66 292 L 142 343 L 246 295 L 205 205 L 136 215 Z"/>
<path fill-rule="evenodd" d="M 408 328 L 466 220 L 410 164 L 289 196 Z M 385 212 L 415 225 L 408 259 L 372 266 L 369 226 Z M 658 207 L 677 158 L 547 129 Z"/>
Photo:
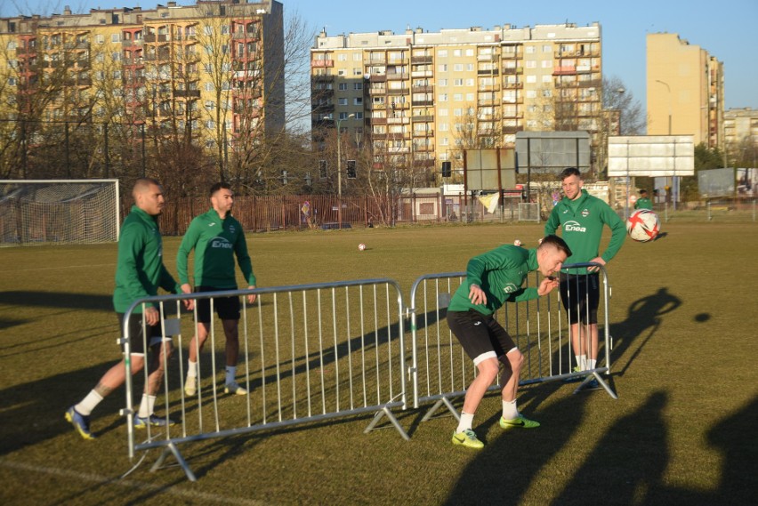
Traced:
<path fill-rule="evenodd" d="M 466 266 L 466 279 L 458 286 L 448 311 L 476 309 L 491 315 L 506 301 L 531 301 L 539 297 L 536 288 L 522 288 L 529 272 L 537 269 L 536 248 L 502 245 L 473 257 Z M 487 295 L 485 304 L 469 300 L 471 285 L 479 285 Z"/>

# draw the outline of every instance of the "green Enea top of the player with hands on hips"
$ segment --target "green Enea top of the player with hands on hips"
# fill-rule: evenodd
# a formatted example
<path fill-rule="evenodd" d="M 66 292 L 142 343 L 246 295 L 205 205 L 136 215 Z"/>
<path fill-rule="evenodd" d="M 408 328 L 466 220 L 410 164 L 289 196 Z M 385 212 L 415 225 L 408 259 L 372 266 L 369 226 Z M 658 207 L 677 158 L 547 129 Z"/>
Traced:
<path fill-rule="evenodd" d="M 611 236 L 608 248 L 600 254 L 600 242 L 602 226 L 608 225 Z M 554 234 L 559 228 L 563 230 L 561 235 L 573 253 L 564 263 L 583 263 L 600 256 L 609 262 L 626 237 L 624 220 L 610 208 L 608 204 L 598 197 L 593 197 L 587 190 L 582 190 L 582 195 L 577 200 L 569 200 L 563 197 L 558 205 L 552 208 L 550 218 L 544 224 L 545 235 Z M 586 269 L 581 269 L 585 273 Z"/>

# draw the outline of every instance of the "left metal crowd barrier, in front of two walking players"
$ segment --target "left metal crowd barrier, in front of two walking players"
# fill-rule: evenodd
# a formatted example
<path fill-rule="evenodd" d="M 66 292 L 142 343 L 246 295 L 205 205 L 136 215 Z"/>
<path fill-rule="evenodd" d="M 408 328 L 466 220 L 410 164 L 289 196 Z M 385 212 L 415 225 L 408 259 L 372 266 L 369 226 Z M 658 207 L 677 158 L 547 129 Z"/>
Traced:
<path fill-rule="evenodd" d="M 258 295 L 253 304 L 247 304 L 243 296 L 250 293 Z M 214 298 L 228 296 L 241 297 L 237 378 L 249 393 L 221 393 L 225 336 L 214 314 L 198 358 L 198 393 L 190 398 L 183 387 L 189 339 L 198 325 L 198 314 L 195 309 L 182 315 L 181 301 L 211 299 L 213 311 Z M 150 297 L 134 302 L 125 321 L 134 309 L 150 302 L 158 303 L 164 335 L 174 337 L 171 363 L 164 367 L 163 399 L 157 406 L 177 424 L 160 430 L 148 427 L 145 440 L 135 440 L 133 398 L 142 390 L 134 390 L 128 373 L 131 345 L 125 325 L 126 407 L 122 414 L 127 418 L 130 458 L 135 452 L 163 447 L 153 470 L 173 454 L 194 481 L 177 448 L 181 443 L 366 413 L 375 414 L 366 432 L 386 416 L 408 439 L 391 412 L 405 409 L 408 400 L 404 305 L 395 281 L 363 279 Z M 147 382 L 145 363 L 142 377 Z"/>

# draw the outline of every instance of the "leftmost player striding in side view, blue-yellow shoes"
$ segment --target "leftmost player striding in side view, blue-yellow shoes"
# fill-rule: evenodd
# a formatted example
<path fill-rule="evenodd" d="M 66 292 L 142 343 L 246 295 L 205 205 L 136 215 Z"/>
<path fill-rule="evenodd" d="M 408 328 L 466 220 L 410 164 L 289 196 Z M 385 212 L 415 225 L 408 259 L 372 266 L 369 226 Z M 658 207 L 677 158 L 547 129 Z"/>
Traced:
<path fill-rule="evenodd" d="M 157 217 L 163 210 L 165 199 L 160 184 L 149 178 L 134 183 L 132 191 L 134 205 L 121 227 L 118 238 L 116 262 L 116 289 L 113 305 L 117 312 L 118 325 L 124 321 L 124 313 L 139 299 L 157 295 L 160 286 L 166 291 L 182 293 L 180 285 L 174 281 L 163 265 L 163 242 L 158 230 Z M 189 290 L 185 293 L 190 293 Z M 185 307 L 192 309 L 192 301 L 185 301 Z M 148 342 L 153 352 L 148 382 L 142 395 L 140 410 L 134 414 L 134 426 L 144 429 L 148 425 L 164 427 L 173 425 L 168 418 L 153 414 L 156 394 L 164 375 L 164 364 L 171 356 L 171 338 L 161 335 L 160 313 L 157 305 L 147 305 L 144 309 L 145 336 L 142 335 L 142 306 L 135 308 L 129 318 L 131 338 L 131 373 L 137 373 L 145 363 L 143 342 Z M 117 389 L 126 380 L 125 359 L 113 365 L 100 382 L 78 404 L 66 411 L 66 420 L 74 425 L 82 438 L 94 439 L 90 431 L 90 414 L 102 399 Z"/>

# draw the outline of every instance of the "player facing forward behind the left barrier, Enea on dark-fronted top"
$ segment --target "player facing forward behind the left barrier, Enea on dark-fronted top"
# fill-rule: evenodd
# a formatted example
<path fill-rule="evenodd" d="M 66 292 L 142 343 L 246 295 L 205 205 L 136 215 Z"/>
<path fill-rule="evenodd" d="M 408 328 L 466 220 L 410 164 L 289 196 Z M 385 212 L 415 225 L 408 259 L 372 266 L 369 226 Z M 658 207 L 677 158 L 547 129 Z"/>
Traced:
<path fill-rule="evenodd" d="M 224 182 L 211 187 L 211 210 L 195 217 L 184 234 L 176 255 L 176 269 L 179 272 L 181 288 L 189 290 L 187 258 L 195 250 L 195 292 L 218 292 L 236 290 L 234 256 L 242 275 L 247 281 L 247 288 L 255 288 L 255 275 L 242 225 L 231 215 L 234 195 L 230 185 Z M 255 295 L 247 295 L 248 303 L 255 301 Z M 214 308 L 222 320 L 226 336 L 226 382 L 224 391 L 228 394 L 246 395 L 247 390 L 240 387 L 235 379 L 239 355 L 239 298 L 216 297 Z M 203 349 L 211 328 L 211 301 L 198 300 L 197 334 L 189 341 L 189 362 L 184 392 L 193 396 L 198 391 L 198 353 Z"/>

